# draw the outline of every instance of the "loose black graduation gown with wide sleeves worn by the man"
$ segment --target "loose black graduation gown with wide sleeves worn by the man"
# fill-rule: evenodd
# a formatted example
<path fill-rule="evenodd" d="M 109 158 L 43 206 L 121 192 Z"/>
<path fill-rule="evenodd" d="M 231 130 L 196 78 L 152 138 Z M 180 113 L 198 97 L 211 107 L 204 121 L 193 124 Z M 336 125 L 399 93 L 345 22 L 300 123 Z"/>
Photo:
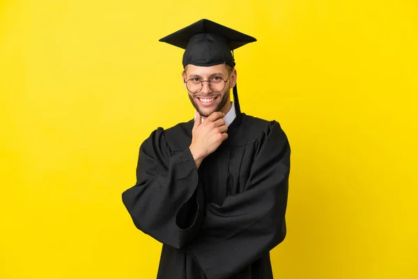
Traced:
<path fill-rule="evenodd" d="M 154 130 L 139 149 L 137 183 L 122 194 L 134 225 L 163 243 L 157 278 L 272 278 L 270 250 L 286 235 L 284 131 L 241 113 L 196 169 L 193 124 Z"/>

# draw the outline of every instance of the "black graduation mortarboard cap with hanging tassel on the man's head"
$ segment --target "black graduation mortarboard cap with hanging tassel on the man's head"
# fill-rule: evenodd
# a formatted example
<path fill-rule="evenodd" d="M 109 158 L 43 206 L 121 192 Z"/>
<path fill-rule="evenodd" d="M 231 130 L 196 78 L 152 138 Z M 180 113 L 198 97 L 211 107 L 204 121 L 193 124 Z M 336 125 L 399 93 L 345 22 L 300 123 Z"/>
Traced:
<path fill-rule="evenodd" d="M 235 66 L 233 50 L 255 41 L 256 38 L 206 19 L 199 20 L 160 39 L 160 42 L 185 50 L 183 67 L 188 64 L 214 66 L 226 63 L 233 68 Z M 236 84 L 233 87 L 233 99 L 237 116 L 239 116 L 240 103 Z"/>

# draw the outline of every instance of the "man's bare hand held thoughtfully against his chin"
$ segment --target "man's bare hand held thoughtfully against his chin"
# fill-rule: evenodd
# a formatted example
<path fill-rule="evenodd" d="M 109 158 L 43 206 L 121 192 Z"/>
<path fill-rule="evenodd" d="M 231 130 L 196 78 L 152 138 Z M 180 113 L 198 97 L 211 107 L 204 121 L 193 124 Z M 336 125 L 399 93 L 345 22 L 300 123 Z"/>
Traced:
<path fill-rule="evenodd" d="M 225 125 L 224 116 L 225 114 L 222 112 L 213 112 L 201 123 L 201 115 L 196 112 L 196 120 L 192 130 L 192 144 L 189 149 L 198 168 L 202 160 L 228 138 L 226 133 L 228 126 Z"/>

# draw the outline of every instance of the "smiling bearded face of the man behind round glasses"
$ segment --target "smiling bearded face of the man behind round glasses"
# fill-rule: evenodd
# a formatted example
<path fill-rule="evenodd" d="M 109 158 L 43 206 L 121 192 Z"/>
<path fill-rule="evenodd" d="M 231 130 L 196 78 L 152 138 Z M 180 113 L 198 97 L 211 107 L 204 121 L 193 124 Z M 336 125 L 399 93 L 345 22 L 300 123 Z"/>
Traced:
<path fill-rule="evenodd" d="M 215 85 L 220 81 L 218 84 L 222 84 L 221 88 L 225 84 L 225 88 L 220 92 L 212 90 L 215 89 L 216 86 L 212 86 L 212 89 L 210 89 L 209 82 L 203 82 L 201 91 L 197 93 L 188 91 L 189 99 L 192 102 L 192 105 L 196 111 L 201 114 L 201 116 L 208 117 L 212 114 L 212 112 L 224 112 L 225 114 L 229 112 L 229 109 L 231 108 L 229 98 L 230 90 L 233 86 L 235 86 L 237 76 L 235 68 L 231 70 L 231 68 L 226 64 L 219 64 L 210 67 L 200 67 L 189 64 L 186 66 L 185 72 L 183 72 L 182 75 L 183 81 L 187 81 L 189 79 L 194 79 L 196 81 L 215 80 L 213 84 Z M 226 83 L 219 78 L 227 80 Z M 196 83 L 199 84 L 199 82 Z"/>

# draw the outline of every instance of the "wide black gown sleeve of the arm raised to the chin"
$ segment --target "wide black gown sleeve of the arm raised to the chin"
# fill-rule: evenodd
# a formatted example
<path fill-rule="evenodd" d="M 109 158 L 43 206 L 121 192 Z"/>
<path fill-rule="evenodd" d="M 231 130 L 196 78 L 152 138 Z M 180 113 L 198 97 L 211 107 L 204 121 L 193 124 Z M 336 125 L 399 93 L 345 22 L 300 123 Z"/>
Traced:
<path fill-rule="evenodd" d="M 122 193 L 134 225 L 157 241 L 183 248 L 199 233 L 203 196 L 189 149 L 171 156 L 164 130 L 141 144 L 137 183 Z"/>

